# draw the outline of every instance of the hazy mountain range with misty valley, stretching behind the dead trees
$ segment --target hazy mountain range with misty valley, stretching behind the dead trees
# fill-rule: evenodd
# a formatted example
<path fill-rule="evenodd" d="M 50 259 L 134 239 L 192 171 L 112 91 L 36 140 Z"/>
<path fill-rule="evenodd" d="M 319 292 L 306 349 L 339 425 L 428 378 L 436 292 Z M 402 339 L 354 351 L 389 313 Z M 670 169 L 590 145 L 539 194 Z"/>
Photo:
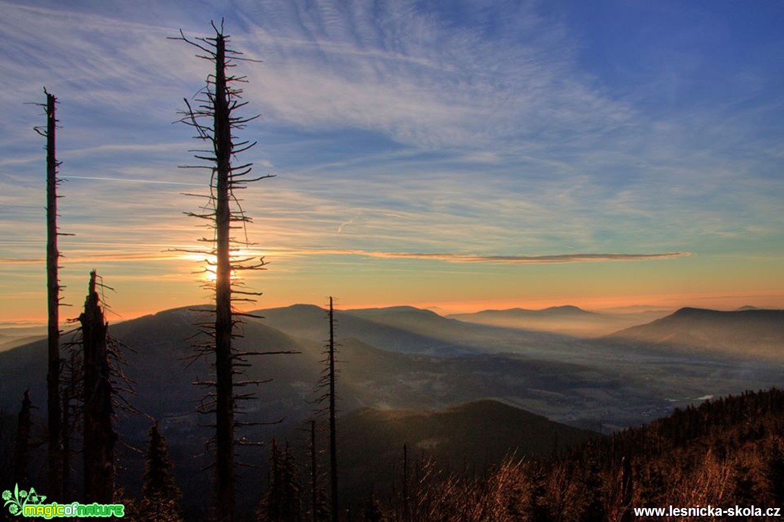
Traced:
<path fill-rule="evenodd" d="M 244 435 L 288 437 L 314 415 L 310 401 L 328 335 L 325 310 L 295 305 L 258 314 L 265 318 L 245 323 L 238 348 L 296 353 L 254 357 L 246 368 L 249 379 L 271 381 L 257 390 L 258 399 L 245 402 L 242 420 L 281 423 Z M 545 313 L 552 314 L 593 317 L 573 307 Z M 776 310 L 682 309 L 599 339 L 474 324 L 408 306 L 345 310 L 336 317 L 339 426 L 346 441 L 355 441 L 350 444 L 365 444 L 368 455 L 386 451 L 390 459 L 401 437 L 412 450 L 434 454 L 470 452 L 466 448 L 480 442 L 482 448 L 499 444 L 486 450 L 492 459 L 504 448 L 541 454 L 552 451 L 554 439 L 566 444 L 568 433 L 585 433 L 575 428 L 606 433 L 704 397 L 784 381 L 782 312 Z M 201 426 L 207 419 L 194 413 L 202 392 L 193 382 L 209 379 L 210 372 L 209 361 L 193 359 L 189 339 L 203 319 L 179 308 L 110 325 L 111 335 L 132 348 L 125 350 L 125 372 L 136 382 L 137 396 L 129 400 L 148 415 L 122 415 L 122 439 L 143 446 L 151 419 L 158 419 L 183 490 L 201 495 L 209 483 L 200 472 L 207 462 L 193 455 L 203 450 L 208 432 Z M 764 350 L 750 350 L 755 345 Z M 18 411 L 27 388 L 33 403 L 44 406 L 45 352 L 45 340 L 0 352 L 2 411 Z M 449 436 L 452 430 L 464 433 Z M 532 432 L 545 435 L 527 439 Z M 485 449 L 473 451 L 485 455 Z M 241 452 L 254 462 L 263 459 Z M 138 455 L 122 459 L 128 473 L 140 473 Z M 362 462 L 349 461 L 351 473 L 367 472 Z"/>

